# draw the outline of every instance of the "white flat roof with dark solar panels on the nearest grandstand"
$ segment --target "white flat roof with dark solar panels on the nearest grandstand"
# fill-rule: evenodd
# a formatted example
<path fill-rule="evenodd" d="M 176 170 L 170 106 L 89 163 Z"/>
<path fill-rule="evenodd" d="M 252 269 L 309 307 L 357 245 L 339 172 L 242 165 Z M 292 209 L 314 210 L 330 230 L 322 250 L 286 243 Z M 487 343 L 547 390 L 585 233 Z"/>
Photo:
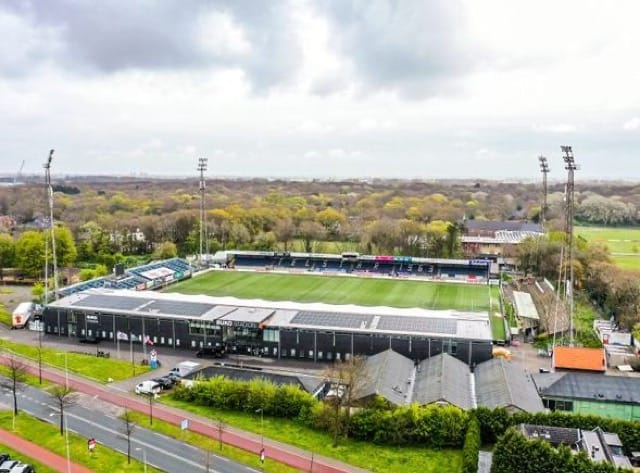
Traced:
<path fill-rule="evenodd" d="M 149 291 L 90 289 L 48 308 L 85 309 L 148 317 L 220 320 L 220 325 L 262 324 L 364 333 L 401 333 L 491 340 L 487 312 L 363 307 L 264 301 Z"/>

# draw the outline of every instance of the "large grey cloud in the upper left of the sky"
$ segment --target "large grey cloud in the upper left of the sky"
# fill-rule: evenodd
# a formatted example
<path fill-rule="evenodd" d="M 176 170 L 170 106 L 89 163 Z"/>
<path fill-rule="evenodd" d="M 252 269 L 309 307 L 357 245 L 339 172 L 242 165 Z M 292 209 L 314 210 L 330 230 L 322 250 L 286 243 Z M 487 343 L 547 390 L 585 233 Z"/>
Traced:
<path fill-rule="evenodd" d="M 28 21 L 34 31 L 56 30 L 61 44 L 52 59 L 76 73 L 233 67 L 244 70 L 260 90 L 295 76 L 302 60 L 288 5 L 282 2 L 47 0 L 3 8 Z M 203 47 L 198 20 L 212 12 L 230 15 L 243 29 L 251 46 L 247 53 Z"/>

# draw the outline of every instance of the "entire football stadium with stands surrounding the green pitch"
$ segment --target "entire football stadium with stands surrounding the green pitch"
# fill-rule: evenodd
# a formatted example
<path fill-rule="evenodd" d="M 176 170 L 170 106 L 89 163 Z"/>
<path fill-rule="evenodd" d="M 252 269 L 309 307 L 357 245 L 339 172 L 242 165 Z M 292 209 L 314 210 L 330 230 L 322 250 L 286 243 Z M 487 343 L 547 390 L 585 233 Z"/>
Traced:
<path fill-rule="evenodd" d="M 415 360 L 491 358 L 499 290 L 487 261 L 234 251 L 193 277 L 178 261 L 120 276 L 162 275 L 150 284 L 65 288 L 45 309 L 45 333 L 323 362 L 388 348 Z"/>

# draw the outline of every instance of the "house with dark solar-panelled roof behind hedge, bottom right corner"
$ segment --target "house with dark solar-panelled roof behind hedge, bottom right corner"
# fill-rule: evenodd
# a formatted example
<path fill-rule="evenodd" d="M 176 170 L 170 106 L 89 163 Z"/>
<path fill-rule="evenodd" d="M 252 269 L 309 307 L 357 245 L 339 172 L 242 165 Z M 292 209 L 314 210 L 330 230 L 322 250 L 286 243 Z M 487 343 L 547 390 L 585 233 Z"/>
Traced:
<path fill-rule="evenodd" d="M 620 437 L 611 432 L 604 432 L 600 427 L 582 430 L 520 424 L 517 429 L 529 439 L 544 440 L 553 447 L 565 445 L 576 453 L 583 451 L 594 462 L 610 463 L 617 468 L 631 468 L 631 462 L 624 455 Z"/>

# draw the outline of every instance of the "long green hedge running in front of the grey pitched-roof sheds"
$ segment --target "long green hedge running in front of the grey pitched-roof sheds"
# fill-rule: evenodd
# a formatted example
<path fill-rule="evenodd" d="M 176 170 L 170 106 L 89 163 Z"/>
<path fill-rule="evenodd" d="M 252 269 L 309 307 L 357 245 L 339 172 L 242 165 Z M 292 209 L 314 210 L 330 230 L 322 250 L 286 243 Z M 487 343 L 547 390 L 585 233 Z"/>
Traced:
<path fill-rule="evenodd" d="M 465 412 L 453 406 L 421 407 L 416 404 L 390 408 L 378 399 L 348 419 L 345 408 L 336 409 L 335 405 L 318 401 L 297 386 L 276 386 L 262 379 L 234 381 L 224 376 L 200 380 L 189 388 L 178 387 L 174 395 L 180 400 L 220 409 L 249 413 L 263 409 L 265 415 L 296 419 L 318 430 L 380 444 L 434 448 L 464 446 L 465 452 L 469 452 L 469 461 L 480 443 L 494 444 L 509 427 L 520 423 L 585 430 L 601 427 L 617 433 L 627 453 L 640 451 L 640 422 L 597 416 L 562 412 L 511 415 L 504 409 L 482 407 Z M 476 428 L 481 442 L 475 440 Z M 471 463 L 469 468 L 472 468 Z"/>

